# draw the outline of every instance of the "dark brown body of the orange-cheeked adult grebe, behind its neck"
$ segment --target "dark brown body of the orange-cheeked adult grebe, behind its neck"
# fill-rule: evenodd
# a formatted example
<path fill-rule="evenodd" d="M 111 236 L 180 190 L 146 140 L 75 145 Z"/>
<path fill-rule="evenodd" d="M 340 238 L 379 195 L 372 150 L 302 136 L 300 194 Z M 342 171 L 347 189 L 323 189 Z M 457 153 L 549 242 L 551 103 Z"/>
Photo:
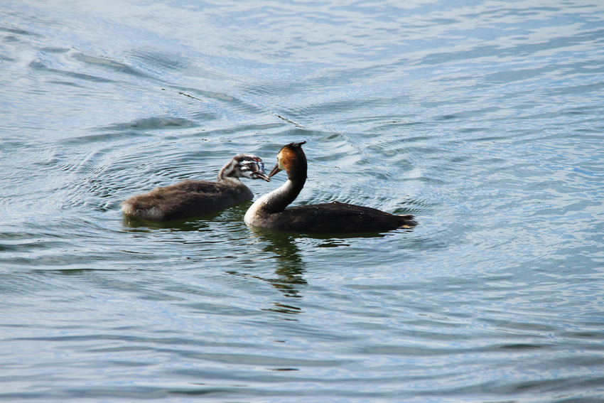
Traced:
<path fill-rule="evenodd" d="M 412 215 L 339 202 L 288 208 L 269 220 L 273 229 L 296 232 L 381 232 L 416 225 Z"/>

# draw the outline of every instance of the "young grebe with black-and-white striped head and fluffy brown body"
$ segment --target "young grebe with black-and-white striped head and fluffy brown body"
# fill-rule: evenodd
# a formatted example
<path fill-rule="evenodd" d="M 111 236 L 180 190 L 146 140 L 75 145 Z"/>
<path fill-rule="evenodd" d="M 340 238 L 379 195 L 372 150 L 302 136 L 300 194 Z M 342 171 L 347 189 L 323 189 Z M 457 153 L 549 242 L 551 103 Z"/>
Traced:
<path fill-rule="evenodd" d="M 122 203 L 122 211 L 137 220 L 169 221 L 216 213 L 236 203 L 252 200 L 254 195 L 239 178 L 271 178 L 264 172 L 262 160 L 252 154 L 237 154 L 218 173 L 217 182 L 184 181 L 155 188 Z"/>

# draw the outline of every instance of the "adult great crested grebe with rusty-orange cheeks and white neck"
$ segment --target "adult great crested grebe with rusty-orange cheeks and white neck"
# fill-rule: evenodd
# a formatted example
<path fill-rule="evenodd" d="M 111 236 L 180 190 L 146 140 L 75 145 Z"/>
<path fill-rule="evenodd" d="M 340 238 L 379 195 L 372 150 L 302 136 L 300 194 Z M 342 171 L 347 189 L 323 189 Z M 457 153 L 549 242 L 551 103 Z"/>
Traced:
<path fill-rule="evenodd" d="M 255 227 L 296 232 L 381 232 L 416 225 L 413 215 L 392 215 L 375 208 L 332 202 L 286 207 L 293 202 L 306 182 L 306 155 L 301 143 L 284 146 L 277 164 L 269 173 L 285 169 L 287 181 L 252 204 L 245 222 Z"/>

